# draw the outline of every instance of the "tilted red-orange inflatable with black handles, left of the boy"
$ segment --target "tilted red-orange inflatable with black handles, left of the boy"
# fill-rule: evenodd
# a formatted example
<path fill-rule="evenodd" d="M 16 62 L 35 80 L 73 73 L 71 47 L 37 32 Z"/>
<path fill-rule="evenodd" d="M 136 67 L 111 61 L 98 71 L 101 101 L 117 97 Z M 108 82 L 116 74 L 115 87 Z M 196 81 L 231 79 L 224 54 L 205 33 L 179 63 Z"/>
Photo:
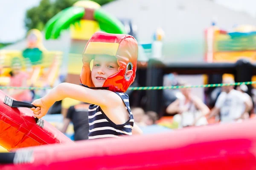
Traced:
<path fill-rule="evenodd" d="M 0 90 L 0 145 L 9 151 L 21 147 L 54 143 L 74 143 L 67 136 L 41 119 L 35 122 L 29 108 L 11 108 L 3 103 L 6 94 Z"/>

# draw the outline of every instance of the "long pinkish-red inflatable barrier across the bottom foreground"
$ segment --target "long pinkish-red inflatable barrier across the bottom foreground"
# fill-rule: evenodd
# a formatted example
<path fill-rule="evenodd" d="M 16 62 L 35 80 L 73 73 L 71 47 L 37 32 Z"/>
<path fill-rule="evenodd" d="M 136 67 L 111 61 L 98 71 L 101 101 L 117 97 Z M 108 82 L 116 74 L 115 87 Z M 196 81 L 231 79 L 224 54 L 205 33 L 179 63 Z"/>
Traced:
<path fill-rule="evenodd" d="M 1 170 L 255 170 L 256 120 L 20 149 Z M 27 154 L 28 155 L 28 154 Z M 17 156 L 19 157 L 19 156 Z"/>

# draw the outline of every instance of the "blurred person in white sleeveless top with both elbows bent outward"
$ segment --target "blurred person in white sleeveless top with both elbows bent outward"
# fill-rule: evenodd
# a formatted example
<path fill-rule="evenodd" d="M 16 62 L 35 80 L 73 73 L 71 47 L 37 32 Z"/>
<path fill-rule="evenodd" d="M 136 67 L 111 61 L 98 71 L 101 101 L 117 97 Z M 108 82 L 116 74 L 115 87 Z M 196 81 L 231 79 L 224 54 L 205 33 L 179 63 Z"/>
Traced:
<path fill-rule="evenodd" d="M 186 82 L 180 85 L 189 85 Z M 166 113 L 175 114 L 174 119 L 178 121 L 179 127 L 207 125 L 206 115 L 209 108 L 197 96 L 193 95 L 191 88 L 181 88 L 182 97 L 172 102 L 167 108 Z"/>

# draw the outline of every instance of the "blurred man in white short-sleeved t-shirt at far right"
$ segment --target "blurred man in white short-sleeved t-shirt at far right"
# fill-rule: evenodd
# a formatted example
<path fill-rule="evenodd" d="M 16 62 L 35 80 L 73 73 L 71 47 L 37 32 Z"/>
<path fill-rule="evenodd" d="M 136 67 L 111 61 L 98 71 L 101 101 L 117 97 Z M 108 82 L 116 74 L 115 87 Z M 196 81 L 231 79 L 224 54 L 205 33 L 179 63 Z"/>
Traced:
<path fill-rule="evenodd" d="M 234 83 L 234 80 L 226 78 L 222 83 Z M 208 119 L 220 113 L 221 122 L 235 122 L 243 119 L 248 109 L 247 98 L 241 91 L 235 90 L 234 86 L 223 86 Z"/>

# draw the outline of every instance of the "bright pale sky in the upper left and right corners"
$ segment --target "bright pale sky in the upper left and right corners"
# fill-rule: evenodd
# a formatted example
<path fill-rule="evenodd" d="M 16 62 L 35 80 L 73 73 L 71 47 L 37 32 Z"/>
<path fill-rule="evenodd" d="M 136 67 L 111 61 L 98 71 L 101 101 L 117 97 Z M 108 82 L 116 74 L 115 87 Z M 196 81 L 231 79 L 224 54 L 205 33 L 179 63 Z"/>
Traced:
<path fill-rule="evenodd" d="M 26 34 L 26 10 L 38 6 L 41 0 L 0 0 L 0 42 L 15 42 Z M 256 0 L 214 0 L 227 8 L 246 11 L 256 17 Z M 15 4 L 15 5 L 13 5 Z"/>

